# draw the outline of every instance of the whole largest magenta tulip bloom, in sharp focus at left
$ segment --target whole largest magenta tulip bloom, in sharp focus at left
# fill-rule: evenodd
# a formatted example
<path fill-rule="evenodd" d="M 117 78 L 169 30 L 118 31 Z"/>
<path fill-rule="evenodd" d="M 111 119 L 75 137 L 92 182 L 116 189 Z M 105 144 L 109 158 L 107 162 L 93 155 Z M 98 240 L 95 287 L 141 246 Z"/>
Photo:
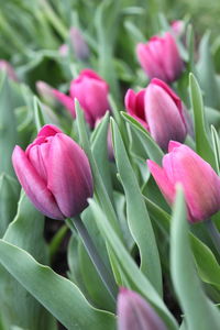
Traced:
<path fill-rule="evenodd" d="M 45 125 L 25 152 L 15 146 L 15 174 L 33 205 L 53 219 L 75 217 L 92 196 L 92 177 L 85 152 L 54 125 Z"/>

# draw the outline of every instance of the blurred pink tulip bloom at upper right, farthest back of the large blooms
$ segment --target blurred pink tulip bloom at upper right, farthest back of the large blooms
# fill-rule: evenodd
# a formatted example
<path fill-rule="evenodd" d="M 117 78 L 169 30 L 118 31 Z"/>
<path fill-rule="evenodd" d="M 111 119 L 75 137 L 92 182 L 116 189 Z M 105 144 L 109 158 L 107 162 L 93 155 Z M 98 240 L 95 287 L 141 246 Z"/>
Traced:
<path fill-rule="evenodd" d="M 153 36 L 146 44 L 138 44 L 136 55 L 148 78 L 172 82 L 184 68 L 176 42 L 168 32 L 163 37 Z"/>

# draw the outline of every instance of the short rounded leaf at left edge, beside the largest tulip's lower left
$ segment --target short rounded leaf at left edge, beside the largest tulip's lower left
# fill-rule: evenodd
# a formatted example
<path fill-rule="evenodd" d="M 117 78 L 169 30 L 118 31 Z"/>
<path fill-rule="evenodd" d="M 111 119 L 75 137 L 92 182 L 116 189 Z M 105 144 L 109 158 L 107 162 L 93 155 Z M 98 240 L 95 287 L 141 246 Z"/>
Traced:
<path fill-rule="evenodd" d="M 9 223 L 16 213 L 19 194 L 20 186 L 18 182 L 3 173 L 0 176 L 0 238 L 3 237 Z"/>

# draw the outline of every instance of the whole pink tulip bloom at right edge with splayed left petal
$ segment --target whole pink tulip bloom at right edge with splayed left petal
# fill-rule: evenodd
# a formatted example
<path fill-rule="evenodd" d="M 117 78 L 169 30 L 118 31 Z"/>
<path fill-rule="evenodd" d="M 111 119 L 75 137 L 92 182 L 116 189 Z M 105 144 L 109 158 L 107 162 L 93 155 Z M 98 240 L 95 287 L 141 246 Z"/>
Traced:
<path fill-rule="evenodd" d="M 182 184 L 189 221 L 207 220 L 220 210 L 220 178 L 190 147 L 170 141 L 163 167 L 152 161 L 147 165 L 169 204 L 175 198 L 175 185 Z"/>

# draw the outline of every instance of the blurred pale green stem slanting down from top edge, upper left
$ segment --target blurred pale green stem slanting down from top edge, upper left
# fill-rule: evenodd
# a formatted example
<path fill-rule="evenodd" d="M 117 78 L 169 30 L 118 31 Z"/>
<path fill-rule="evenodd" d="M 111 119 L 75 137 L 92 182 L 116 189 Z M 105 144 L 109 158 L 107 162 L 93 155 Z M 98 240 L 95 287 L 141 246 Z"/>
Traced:
<path fill-rule="evenodd" d="M 59 35 L 65 40 L 67 37 L 68 31 L 63 22 L 59 20 L 53 8 L 48 4 L 46 0 L 41 0 L 42 7 L 44 8 L 44 13 L 48 21 L 52 23 L 54 29 L 59 33 Z"/>

